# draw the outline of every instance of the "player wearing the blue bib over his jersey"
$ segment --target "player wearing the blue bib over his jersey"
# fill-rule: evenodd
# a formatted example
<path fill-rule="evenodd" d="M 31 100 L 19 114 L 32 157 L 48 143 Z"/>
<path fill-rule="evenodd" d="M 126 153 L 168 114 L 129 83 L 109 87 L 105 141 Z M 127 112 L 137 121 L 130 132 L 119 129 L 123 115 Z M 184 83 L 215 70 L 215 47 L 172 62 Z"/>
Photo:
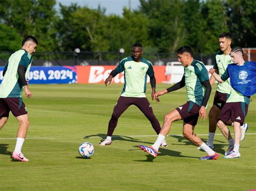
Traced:
<path fill-rule="evenodd" d="M 256 63 L 245 62 L 243 55 L 241 47 L 234 47 L 230 53 L 233 63 L 227 66 L 223 75 L 219 76 L 213 68 L 210 69 L 210 73 L 219 83 L 224 83 L 229 78 L 231 81 L 231 94 L 220 112 L 217 123 L 218 128 L 230 143 L 224 158 L 238 158 L 241 155 L 239 153 L 240 125 L 244 123 L 247 115 L 250 96 L 255 94 Z M 226 126 L 230 119 L 234 126 L 234 140 Z"/>

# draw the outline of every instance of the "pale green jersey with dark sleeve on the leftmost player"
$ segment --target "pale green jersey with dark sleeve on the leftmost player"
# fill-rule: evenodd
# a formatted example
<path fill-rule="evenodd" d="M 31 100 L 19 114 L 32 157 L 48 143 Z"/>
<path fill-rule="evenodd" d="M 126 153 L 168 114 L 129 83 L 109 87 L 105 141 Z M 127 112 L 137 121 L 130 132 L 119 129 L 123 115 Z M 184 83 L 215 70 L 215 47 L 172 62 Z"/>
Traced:
<path fill-rule="evenodd" d="M 24 49 L 13 53 L 5 65 L 4 79 L 0 86 L 0 98 L 21 97 L 22 84 L 18 80 L 18 66 L 23 65 L 26 68 L 25 78 L 28 77 L 32 62 L 32 55 Z"/>

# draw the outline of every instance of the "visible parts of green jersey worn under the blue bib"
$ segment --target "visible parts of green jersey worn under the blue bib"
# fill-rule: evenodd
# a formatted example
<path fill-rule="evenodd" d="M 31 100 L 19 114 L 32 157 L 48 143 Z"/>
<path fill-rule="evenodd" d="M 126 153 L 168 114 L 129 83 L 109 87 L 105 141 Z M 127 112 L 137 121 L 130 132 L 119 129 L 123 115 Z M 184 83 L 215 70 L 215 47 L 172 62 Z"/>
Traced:
<path fill-rule="evenodd" d="M 248 62 L 245 62 L 244 65 L 246 65 L 247 63 Z M 224 74 L 221 75 L 221 80 L 226 81 L 229 78 L 230 78 L 230 74 L 228 73 L 228 70 L 226 69 Z M 250 104 L 250 96 L 244 96 L 239 91 L 237 91 L 231 87 L 231 94 L 227 98 L 226 103 L 231 103 L 231 102 L 244 102 L 247 105 L 249 105 Z"/>

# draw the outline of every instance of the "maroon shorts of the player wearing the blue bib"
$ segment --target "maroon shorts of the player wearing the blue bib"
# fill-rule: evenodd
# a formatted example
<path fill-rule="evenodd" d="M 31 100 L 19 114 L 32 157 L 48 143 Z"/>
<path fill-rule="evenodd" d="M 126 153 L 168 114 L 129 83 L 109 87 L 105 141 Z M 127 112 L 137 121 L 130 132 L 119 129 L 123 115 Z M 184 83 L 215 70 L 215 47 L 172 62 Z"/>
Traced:
<path fill-rule="evenodd" d="M 247 111 L 248 105 L 245 102 L 226 103 L 220 112 L 218 120 L 227 123 L 231 119 L 232 122 L 239 122 L 242 125 Z"/>

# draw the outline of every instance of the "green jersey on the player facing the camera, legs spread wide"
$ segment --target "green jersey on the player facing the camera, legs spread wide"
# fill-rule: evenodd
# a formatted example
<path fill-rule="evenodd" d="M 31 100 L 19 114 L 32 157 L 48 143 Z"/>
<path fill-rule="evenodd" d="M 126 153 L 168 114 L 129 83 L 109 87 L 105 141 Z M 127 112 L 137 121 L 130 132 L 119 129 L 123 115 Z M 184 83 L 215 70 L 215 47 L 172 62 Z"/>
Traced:
<path fill-rule="evenodd" d="M 121 96 L 124 97 L 146 97 L 147 75 L 154 76 L 152 63 L 142 58 L 140 62 L 126 57 L 120 61 L 116 69 L 117 73 L 124 71 L 124 88 Z"/>

